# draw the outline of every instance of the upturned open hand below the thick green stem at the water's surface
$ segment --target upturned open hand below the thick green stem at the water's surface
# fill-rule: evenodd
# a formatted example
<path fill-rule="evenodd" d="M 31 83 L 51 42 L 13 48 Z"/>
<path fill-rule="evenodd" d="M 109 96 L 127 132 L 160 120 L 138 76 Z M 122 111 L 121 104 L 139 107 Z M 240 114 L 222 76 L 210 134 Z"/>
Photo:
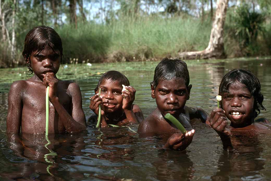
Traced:
<path fill-rule="evenodd" d="M 185 133 L 185 135 L 183 135 L 182 133 L 175 133 L 172 136 L 170 136 L 170 138 L 167 140 L 163 148 L 183 151 L 192 142 L 194 133 L 195 133 L 194 129 Z"/>

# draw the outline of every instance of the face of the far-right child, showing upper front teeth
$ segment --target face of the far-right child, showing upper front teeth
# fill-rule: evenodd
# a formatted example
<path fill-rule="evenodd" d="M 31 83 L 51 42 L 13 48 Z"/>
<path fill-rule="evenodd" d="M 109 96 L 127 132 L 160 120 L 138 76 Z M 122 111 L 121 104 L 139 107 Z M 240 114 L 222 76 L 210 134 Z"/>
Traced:
<path fill-rule="evenodd" d="M 255 116 L 253 96 L 240 82 L 231 84 L 229 92 L 223 93 L 222 105 L 231 126 L 236 128 L 250 125 Z"/>

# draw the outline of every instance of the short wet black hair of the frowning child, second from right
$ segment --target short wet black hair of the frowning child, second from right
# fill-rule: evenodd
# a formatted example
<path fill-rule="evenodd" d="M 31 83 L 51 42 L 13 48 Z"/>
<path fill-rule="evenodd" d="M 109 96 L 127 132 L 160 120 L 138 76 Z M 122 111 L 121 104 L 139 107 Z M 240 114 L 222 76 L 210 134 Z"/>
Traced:
<path fill-rule="evenodd" d="M 164 58 L 154 70 L 151 85 L 155 89 L 159 81 L 180 78 L 184 80 L 186 87 L 188 87 L 190 78 L 186 63 L 179 59 Z"/>

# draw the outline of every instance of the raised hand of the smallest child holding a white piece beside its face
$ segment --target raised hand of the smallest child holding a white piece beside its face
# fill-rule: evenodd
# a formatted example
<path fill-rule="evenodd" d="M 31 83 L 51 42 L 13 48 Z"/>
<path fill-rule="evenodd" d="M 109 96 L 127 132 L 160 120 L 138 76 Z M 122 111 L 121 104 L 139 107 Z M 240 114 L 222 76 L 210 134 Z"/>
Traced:
<path fill-rule="evenodd" d="M 125 86 L 128 91 L 121 91 L 122 96 L 124 96 L 122 101 L 123 110 L 132 110 L 132 104 L 135 100 L 135 89 L 132 86 Z"/>

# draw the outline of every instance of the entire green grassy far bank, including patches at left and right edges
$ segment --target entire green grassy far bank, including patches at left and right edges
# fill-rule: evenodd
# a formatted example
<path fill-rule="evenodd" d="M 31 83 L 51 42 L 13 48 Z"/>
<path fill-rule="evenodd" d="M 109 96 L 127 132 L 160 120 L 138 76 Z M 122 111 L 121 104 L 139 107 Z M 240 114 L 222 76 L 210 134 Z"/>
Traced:
<path fill-rule="evenodd" d="M 230 14 L 230 13 L 229 13 Z M 267 56 L 270 54 L 270 23 L 265 24 L 264 35 L 259 35 L 257 42 L 249 49 L 240 48 L 234 36 L 234 22 L 227 17 L 224 31 L 224 46 L 228 57 Z M 199 51 L 208 46 L 211 21 L 203 23 L 195 17 L 163 18 L 159 15 L 121 17 L 109 24 L 93 21 L 79 23 L 78 29 L 66 24 L 56 29 L 63 42 L 63 63 L 78 59 L 81 62 L 118 62 L 161 60 L 164 57 L 178 57 L 178 52 Z M 18 33 L 18 64 L 10 64 L 9 49 L 0 45 L 0 66 L 16 67 L 25 64 L 21 52 L 27 31 Z M 73 61 L 74 63 L 74 61 Z"/>

